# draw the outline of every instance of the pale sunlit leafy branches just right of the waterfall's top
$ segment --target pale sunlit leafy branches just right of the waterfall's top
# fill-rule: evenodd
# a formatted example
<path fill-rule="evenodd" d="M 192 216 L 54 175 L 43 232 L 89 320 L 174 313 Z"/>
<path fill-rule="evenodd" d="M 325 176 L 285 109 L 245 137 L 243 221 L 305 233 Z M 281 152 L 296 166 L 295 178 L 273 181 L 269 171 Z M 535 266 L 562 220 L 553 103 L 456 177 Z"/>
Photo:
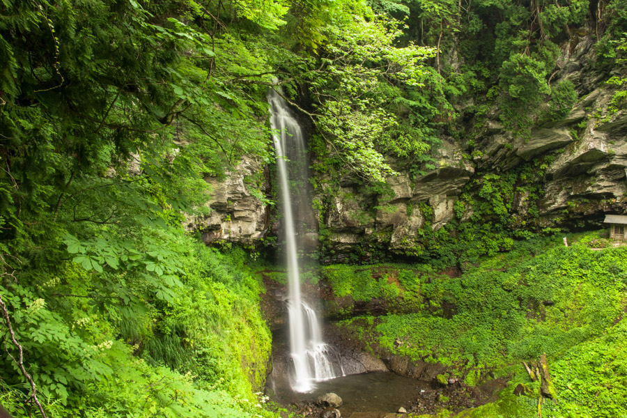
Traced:
<path fill-rule="evenodd" d="M 347 167 L 366 179 L 382 181 L 394 171 L 381 150 L 408 150 L 395 146 L 396 140 L 404 141 L 402 135 L 392 135 L 400 120 L 386 109 L 380 86 L 390 81 L 422 86 L 421 63 L 433 56 L 433 49 L 396 47 L 401 27 L 383 17 L 356 16 L 343 26 L 327 27 L 325 33 L 329 43 L 320 58 L 325 71 L 309 79 L 319 98 L 318 125 Z M 422 150 L 416 146 L 410 152 Z"/>

